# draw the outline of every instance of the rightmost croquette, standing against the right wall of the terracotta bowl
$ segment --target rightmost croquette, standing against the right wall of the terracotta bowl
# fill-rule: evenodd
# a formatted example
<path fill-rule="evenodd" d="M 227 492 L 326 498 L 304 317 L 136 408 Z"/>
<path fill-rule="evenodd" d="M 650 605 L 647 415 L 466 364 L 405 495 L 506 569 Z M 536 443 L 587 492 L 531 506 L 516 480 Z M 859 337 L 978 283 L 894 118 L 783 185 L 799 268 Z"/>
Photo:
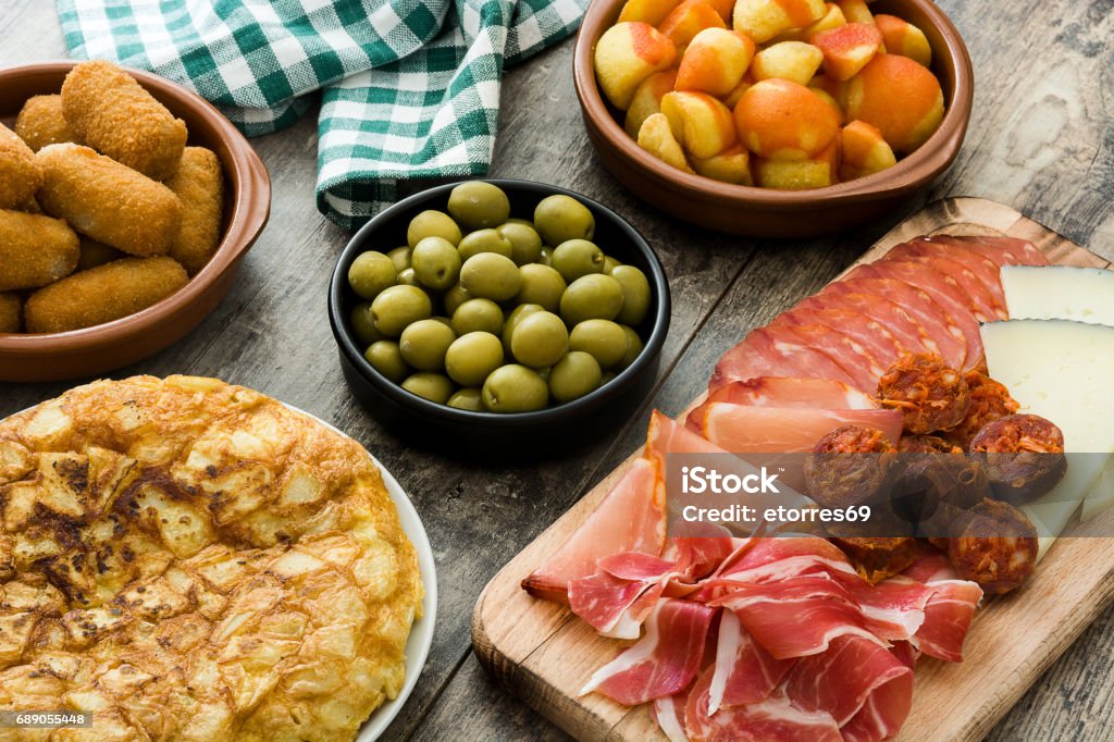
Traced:
<path fill-rule="evenodd" d="M 166 185 L 182 202 L 182 228 L 170 257 L 190 276 L 205 267 L 221 241 L 224 176 L 221 160 L 204 147 L 186 147 L 182 167 Z"/>

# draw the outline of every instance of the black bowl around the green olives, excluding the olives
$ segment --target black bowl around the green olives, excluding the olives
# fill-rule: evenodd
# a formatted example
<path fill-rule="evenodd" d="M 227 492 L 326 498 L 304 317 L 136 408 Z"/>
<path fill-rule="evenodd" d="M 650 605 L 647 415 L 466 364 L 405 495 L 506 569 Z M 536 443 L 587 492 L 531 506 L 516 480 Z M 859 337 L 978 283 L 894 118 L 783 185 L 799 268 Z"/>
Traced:
<path fill-rule="evenodd" d="M 643 352 L 638 359 L 610 382 L 580 399 L 537 412 L 517 414 L 471 412 L 437 404 L 411 394 L 375 371 L 363 358 L 364 349 L 359 346 L 349 326 L 349 314 L 352 309 L 364 301 L 356 296 L 348 285 L 349 267 L 356 256 L 365 251 L 375 250 L 385 253 L 394 247 L 404 245 L 407 242 L 407 225 L 410 223 L 410 219 L 427 208 L 447 211 L 449 192 L 457 185 L 456 183 L 437 186 L 399 202 L 364 225 L 352 237 L 352 241 L 344 248 L 338 261 L 336 270 L 333 273 L 330 285 L 330 319 L 333 323 L 333 332 L 336 335 L 338 343 L 340 343 L 341 350 L 348 359 L 356 365 L 361 374 L 378 391 L 434 419 L 455 421 L 482 420 L 483 424 L 487 426 L 529 427 L 538 422 L 544 422 L 554 414 L 575 414 L 577 410 L 594 408 L 602 401 L 606 401 L 609 394 L 622 390 L 627 379 L 633 379 L 661 353 L 670 321 L 670 294 L 665 272 L 642 235 L 603 204 L 557 186 L 515 179 L 486 180 L 506 192 L 510 201 L 511 217 L 532 221 L 534 207 L 546 196 L 565 194 L 576 198 L 592 211 L 596 219 L 596 233 L 593 241 L 599 245 L 604 253 L 612 255 L 623 263 L 634 265 L 646 274 L 652 296 L 646 319 L 635 328 L 644 343 Z"/>

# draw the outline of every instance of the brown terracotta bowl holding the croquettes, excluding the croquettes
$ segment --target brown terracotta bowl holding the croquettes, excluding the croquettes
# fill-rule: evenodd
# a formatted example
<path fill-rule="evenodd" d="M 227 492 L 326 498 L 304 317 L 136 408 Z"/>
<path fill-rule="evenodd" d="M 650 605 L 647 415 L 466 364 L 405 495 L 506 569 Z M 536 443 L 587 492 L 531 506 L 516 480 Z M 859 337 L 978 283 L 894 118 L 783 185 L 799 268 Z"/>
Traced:
<path fill-rule="evenodd" d="M 76 62 L 0 70 L 0 120 L 11 124 L 31 96 L 58 92 Z M 271 214 L 271 177 L 247 139 L 196 94 L 128 69 L 184 120 L 189 144 L 208 147 L 224 168 L 224 228 L 216 254 L 177 293 L 141 312 L 95 328 L 53 334 L 0 334 L 0 380 L 57 381 L 118 369 L 167 348 L 196 328 L 232 287 L 236 269 Z"/>

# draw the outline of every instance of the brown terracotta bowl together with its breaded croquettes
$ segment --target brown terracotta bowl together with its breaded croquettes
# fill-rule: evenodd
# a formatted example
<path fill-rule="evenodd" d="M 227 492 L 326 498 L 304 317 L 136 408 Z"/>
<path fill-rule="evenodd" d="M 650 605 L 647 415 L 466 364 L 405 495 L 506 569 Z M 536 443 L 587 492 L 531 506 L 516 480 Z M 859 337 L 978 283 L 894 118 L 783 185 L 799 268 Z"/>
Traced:
<path fill-rule="evenodd" d="M 270 216 L 267 169 L 216 108 L 77 65 L 0 70 L 0 381 L 87 378 L 175 343 Z"/>

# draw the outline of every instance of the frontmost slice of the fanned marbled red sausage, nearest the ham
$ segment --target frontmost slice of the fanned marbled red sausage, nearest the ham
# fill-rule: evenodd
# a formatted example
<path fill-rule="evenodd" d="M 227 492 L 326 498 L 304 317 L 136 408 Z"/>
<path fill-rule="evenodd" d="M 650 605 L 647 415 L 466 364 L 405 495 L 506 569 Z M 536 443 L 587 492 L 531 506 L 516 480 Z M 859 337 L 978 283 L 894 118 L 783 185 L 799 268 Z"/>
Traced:
<path fill-rule="evenodd" d="M 800 340 L 774 333 L 766 328 L 752 330 L 742 342 L 724 353 L 709 382 L 714 391 L 732 381 L 759 377 L 831 379 L 858 388 L 859 382 L 831 357 Z M 870 392 L 873 389 L 863 389 Z"/>

